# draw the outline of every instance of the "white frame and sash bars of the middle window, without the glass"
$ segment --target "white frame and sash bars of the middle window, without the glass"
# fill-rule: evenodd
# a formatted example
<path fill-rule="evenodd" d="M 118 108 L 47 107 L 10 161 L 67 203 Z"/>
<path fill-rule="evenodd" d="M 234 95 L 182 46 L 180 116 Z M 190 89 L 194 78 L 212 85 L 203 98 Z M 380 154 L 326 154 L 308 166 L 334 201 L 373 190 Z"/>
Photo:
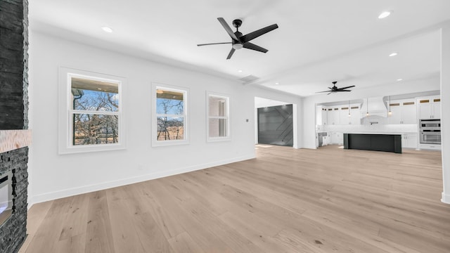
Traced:
<path fill-rule="evenodd" d="M 164 140 L 164 141 L 158 141 L 158 114 L 157 114 L 157 98 L 156 98 L 156 90 L 162 89 L 165 91 L 176 91 L 184 93 L 183 95 L 183 110 L 184 110 L 184 124 L 183 124 L 183 131 L 184 131 L 184 139 L 183 140 Z M 169 84 L 159 84 L 159 83 L 153 83 L 152 84 L 152 91 L 151 91 L 151 101 L 152 101 L 152 146 L 153 147 L 159 147 L 159 146 L 167 146 L 167 145 L 186 145 L 189 144 L 189 136 L 190 136 L 190 127 L 189 127 L 189 89 L 186 87 L 181 86 L 174 86 Z M 180 115 L 165 115 L 166 117 L 180 117 Z"/>

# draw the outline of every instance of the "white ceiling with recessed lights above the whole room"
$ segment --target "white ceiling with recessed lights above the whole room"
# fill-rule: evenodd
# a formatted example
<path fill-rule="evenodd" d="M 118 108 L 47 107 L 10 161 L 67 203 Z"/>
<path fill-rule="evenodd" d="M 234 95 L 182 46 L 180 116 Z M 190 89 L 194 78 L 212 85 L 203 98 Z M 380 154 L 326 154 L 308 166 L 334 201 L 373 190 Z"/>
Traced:
<path fill-rule="evenodd" d="M 380 20 L 383 11 L 392 15 Z M 252 40 L 268 53 L 243 48 L 226 60 L 229 44 L 196 46 L 231 41 L 218 17 L 230 27 L 242 19 L 243 34 L 274 23 L 279 28 Z M 229 79 L 253 75 L 259 79 L 252 85 L 319 96 L 333 81 L 360 89 L 437 77 L 438 28 L 450 20 L 450 1 L 33 0 L 29 18 L 31 30 Z M 389 57 L 392 52 L 398 56 Z"/>

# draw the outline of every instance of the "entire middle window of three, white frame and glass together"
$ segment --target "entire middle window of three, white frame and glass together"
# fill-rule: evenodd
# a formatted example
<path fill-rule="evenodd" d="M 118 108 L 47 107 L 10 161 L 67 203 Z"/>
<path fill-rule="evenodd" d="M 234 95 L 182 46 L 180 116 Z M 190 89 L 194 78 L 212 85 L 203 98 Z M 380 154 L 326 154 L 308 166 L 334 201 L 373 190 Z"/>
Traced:
<path fill-rule="evenodd" d="M 188 90 L 175 86 L 153 85 L 153 145 L 188 143 Z"/>

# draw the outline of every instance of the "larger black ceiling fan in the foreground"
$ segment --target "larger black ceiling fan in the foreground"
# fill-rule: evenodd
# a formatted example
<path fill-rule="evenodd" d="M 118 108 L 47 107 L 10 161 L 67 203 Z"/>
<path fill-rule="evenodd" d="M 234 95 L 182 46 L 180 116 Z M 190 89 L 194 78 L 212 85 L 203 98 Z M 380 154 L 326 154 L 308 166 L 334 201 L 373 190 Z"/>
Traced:
<path fill-rule="evenodd" d="M 255 32 L 250 32 L 249 34 L 243 35 L 241 32 L 239 32 L 239 27 L 240 27 L 240 25 L 242 25 L 242 20 L 240 20 L 240 19 L 233 20 L 233 26 L 236 27 L 236 32 L 234 32 L 234 33 L 231 30 L 231 27 L 226 23 L 224 18 L 217 18 L 217 20 L 219 20 L 220 24 L 225 28 L 226 32 L 230 35 L 231 42 L 198 44 L 197 46 L 231 44 L 232 48 L 231 48 L 230 53 L 226 57 L 226 60 L 229 60 L 229 58 L 231 58 L 231 56 L 233 56 L 234 51 L 236 51 L 236 49 L 240 49 L 240 48 L 247 48 L 247 49 L 252 49 L 255 51 L 262 52 L 262 53 L 267 53 L 268 50 L 266 48 L 262 48 L 261 46 L 252 44 L 249 41 L 261 36 L 262 34 L 265 34 L 267 32 L 270 32 L 271 30 L 275 30 L 276 28 L 278 28 L 278 25 L 274 24 L 274 25 L 269 25 L 267 27 L 256 30 Z"/>

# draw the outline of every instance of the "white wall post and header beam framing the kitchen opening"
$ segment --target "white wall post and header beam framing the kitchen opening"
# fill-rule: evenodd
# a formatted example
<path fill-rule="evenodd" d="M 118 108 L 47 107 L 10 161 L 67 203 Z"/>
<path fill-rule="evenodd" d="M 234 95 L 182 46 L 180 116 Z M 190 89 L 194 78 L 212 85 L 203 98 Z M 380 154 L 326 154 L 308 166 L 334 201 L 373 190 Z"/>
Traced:
<path fill-rule="evenodd" d="M 357 87 L 356 87 L 357 88 Z M 401 82 L 395 85 L 387 84 L 368 89 L 353 89 L 352 92 L 333 93 L 330 95 L 309 96 L 303 100 L 303 120 L 304 129 L 302 140 L 303 148 L 316 148 L 315 120 L 316 103 L 329 103 L 336 101 L 355 100 L 361 98 L 373 98 L 376 96 L 394 96 L 405 93 L 416 93 L 423 91 L 439 90 L 439 78 L 416 80 L 411 82 Z"/>

